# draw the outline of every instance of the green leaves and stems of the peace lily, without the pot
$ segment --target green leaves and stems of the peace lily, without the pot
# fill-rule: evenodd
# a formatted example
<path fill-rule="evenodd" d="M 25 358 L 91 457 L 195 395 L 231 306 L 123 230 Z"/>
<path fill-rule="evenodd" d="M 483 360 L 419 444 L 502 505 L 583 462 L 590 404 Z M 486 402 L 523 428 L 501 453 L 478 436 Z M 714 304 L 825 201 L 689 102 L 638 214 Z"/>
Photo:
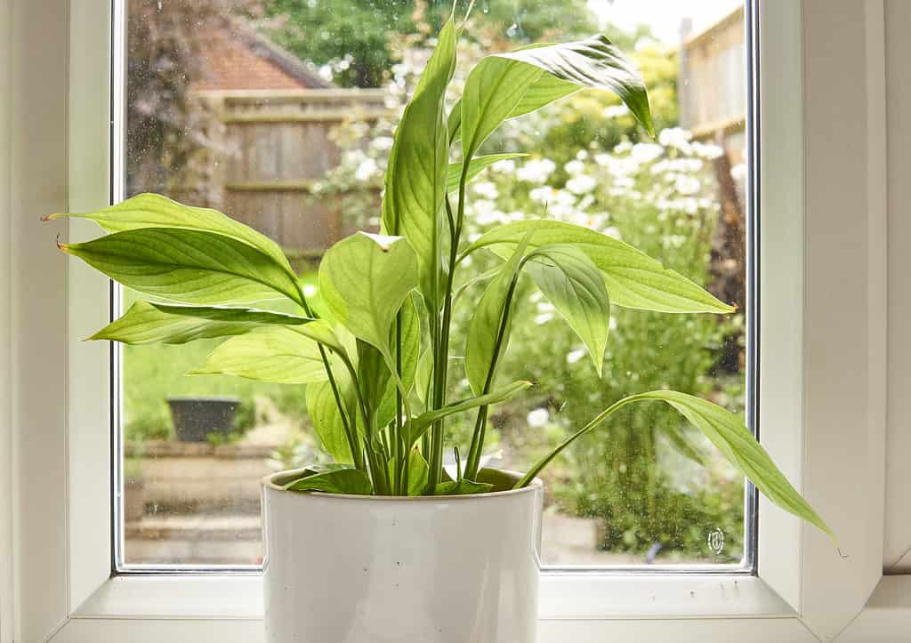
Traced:
<path fill-rule="evenodd" d="M 606 90 L 619 96 L 650 136 L 654 132 L 639 72 L 605 36 L 487 56 L 467 77 L 461 100 L 447 110 L 445 92 L 463 28 L 453 19 L 442 27 L 404 109 L 389 152 L 380 234 L 357 232 L 323 256 L 320 314 L 312 292 L 302 288 L 273 241 L 215 210 L 142 194 L 94 212 L 49 217 L 96 221 L 107 236 L 61 249 L 155 300 L 138 301 L 91 339 L 179 344 L 222 338 L 193 373 L 306 385 L 312 424 L 336 464 L 308 470 L 289 490 L 449 495 L 502 489 L 507 477 L 483 467 L 482 454 L 490 407 L 531 386 L 503 383 L 496 375 L 509 346 L 519 280 L 534 282 L 585 348 L 555 360 L 575 362 L 587 353 L 599 374 L 612 306 L 733 311 L 658 260 L 586 227 L 547 218 L 513 220 L 480 238 L 465 238 L 466 186 L 491 166 L 512 171 L 513 159 L 523 156 L 482 153 L 507 119 L 579 90 Z M 665 130 L 662 145 L 690 146 L 681 131 Z M 661 150 L 653 144 L 632 149 L 634 157 Z M 374 171 L 358 171 L 368 169 Z M 532 159 L 515 174 L 543 183 L 554 169 L 547 159 Z M 486 190 L 475 191 L 483 197 Z M 478 301 L 459 301 L 457 275 L 481 251 L 501 262 L 482 276 L 486 288 Z M 291 301 L 298 312 L 250 307 L 269 300 Z M 464 361 L 474 394 L 451 401 L 446 392 L 456 303 L 474 310 Z M 773 503 L 829 532 L 736 415 L 686 393 L 620 399 L 541 458 L 515 487 L 530 484 L 569 444 L 632 403 L 670 404 Z M 475 428 L 471 443 L 455 452 L 460 462 L 454 480 L 444 467 L 445 421 L 466 412 L 475 413 Z M 537 417 L 529 423 L 540 424 Z"/>

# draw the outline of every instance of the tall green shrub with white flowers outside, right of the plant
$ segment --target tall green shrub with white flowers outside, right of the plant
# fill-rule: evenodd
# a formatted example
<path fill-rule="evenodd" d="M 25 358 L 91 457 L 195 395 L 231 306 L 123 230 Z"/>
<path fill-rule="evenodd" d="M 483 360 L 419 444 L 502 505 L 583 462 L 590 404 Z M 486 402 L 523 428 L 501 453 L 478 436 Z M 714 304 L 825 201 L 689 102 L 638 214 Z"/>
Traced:
<path fill-rule="evenodd" d="M 582 151 L 562 167 L 548 158 L 500 161 L 469 188 L 474 197 L 468 201 L 469 236 L 520 219 L 559 219 L 628 241 L 705 284 L 720 209 L 710 164 L 720 153 L 692 141 L 685 130 L 668 128 L 657 143 Z M 476 275 L 495 263 L 475 261 Z M 471 299 L 482 290 L 482 283 L 473 284 L 463 296 Z M 529 288 L 523 305 L 531 315 L 517 319 L 531 323 L 514 328 L 502 373 L 533 379 L 551 396 L 500 412 L 499 448 L 510 465 L 521 469 L 578 429 L 591 409 L 618 395 L 680 387 L 740 408 L 742 379 L 714 369 L 724 338 L 742 334 L 741 315 L 721 321 L 615 306 L 599 380 L 584 346 L 539 293 Z M 468 319 L 456 323 L 464 330 Z M 686 349 L 673 348 L 681 346 Z M 555 353 L 565 359 L 555 362 Z M 538 429 L 527 431 L 523 424 Z M 657 542 L 688 556 L 706 555 L 705 532 L 719 526 L 728 535 L 722 556 L 739 560 L 742 481 L 711 458 L 711 449 L 690 453 L 681 430 L 679 419 L 663 409 L 630 409 L 600 439 L 575 446 L 562 470 L 551 472 L 558 502 L 572 513 L 599 517 L 604 547 L 644 551 Z M 695 434 L 686 439 L 699 443 Z M 711 463 L 703 468 L 688 456 Z"/>

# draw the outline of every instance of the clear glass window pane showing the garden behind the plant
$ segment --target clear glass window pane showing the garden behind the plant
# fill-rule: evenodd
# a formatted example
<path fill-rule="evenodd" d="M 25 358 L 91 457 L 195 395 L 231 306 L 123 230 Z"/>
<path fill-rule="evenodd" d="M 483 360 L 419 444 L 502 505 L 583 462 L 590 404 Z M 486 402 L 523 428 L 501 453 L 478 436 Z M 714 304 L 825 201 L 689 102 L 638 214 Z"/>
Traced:
<path fill-rule="evenodd" d="M 449 12 L 426 0 L 131 0 L 126 196 L 161 192 L 250 224 L 281 244 L 315 293 L 322 251 L 378 226 L 395 117 Z M 480 0 L 454 95 L 486 53 L 597 31 L 640 66 L 657 138 L 608 93 L 580 92 L 508 121 L 486 152 L 529 156 L 501 161 L 470 185 L 467 236 L 542 216 L 588 226 L 739 312 L 614 306 L 599 379 L 558 312 L 520 282 L 499 376 L 537 386 L 493 413 L 488 451 L 501 468 L 527 468 L 630 393 L 673 388 L 744 412 L 742 4 Z M 494 261 L 476 253 L 458 281 Z M 469 286 L 456 309 L 455 346 L 482 290 Z M 122 299 L 126 307 L 138 295 Z M 258 565 L 261 476 L 328 460 L 302 386 L 185 375 L 218 343 L 122 350 L 122 566 Z M 457 360 L 450 382 L 451 399 L 468 393 Z M 453 444 L 466 448 L 473 420 L 448 424 Z M 658 404 L 630 407 L 543 477 L 548 565 L 742 561 L 742 479 Z"/>

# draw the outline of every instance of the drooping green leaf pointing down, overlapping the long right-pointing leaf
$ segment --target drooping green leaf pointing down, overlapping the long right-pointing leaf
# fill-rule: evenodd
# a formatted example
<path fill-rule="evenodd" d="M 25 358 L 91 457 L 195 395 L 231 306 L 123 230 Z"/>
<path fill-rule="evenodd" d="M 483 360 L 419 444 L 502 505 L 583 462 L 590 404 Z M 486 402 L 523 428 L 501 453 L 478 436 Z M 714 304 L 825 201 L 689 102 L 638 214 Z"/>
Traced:
<path fill-rule="evenodd" d="M 600 377 L 608 345 L 610 300 L 598 266 L 584 252 L 565 244 L 542 246 L 532 256 L 548 261 L 529 261 L 528 274 L 585 342 Z"/>

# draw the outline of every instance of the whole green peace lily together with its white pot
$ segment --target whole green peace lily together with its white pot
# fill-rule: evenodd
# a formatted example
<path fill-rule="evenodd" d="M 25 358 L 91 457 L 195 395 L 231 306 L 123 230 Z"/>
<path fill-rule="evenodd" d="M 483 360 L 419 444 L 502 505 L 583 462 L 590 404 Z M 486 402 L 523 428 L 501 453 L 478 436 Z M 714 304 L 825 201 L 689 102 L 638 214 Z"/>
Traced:
<path fill-rule="evenodd" d="M 736 415 L 686 393 L 620 399 L 526 472 L 482 466 L 489 408 L 531 386 L 496 378 L 519 279 L 533 281 L 562 314 L 598 373 L 611 305 L 733 309 L 619 240 L 546 216 L 463 238 L 466 184 L 511 156 L 479 155 L 507 118 L 593 88 L 618 94 L 653 134 L 640 75 L 604 36 L 487 56 L 447 109 L 463 28 L 453 19 L 442 27 L 404 109 L 385 177 L 381 234 L 357 232 L 325 253 L 319 305 L 271 240 L 214 210 L 156 195 L 70 215 L 110 234 L 60 246 L 157 299 L 134 304 L 95 339 L 227 338 L 193 373 L 307 385 L 312 424 L 335 462 L 263 482 L 272 642 L 530 643 L 542 495 L 536 476 L 568 444 L 633 403 L 670 404 L 774 503 L 828 532 Z M 459 301 L 473 309 L 464 369 L 474 395 L 450 401 L 460 268 L 480 251 L 501 262 L 480 278 L 480 299 Z M 247 307 L 271 299 L 290 301 L 298 312 Z M 447 469 L 444 424 L 466 412 L 476 414 L 472 439 Z"/>

